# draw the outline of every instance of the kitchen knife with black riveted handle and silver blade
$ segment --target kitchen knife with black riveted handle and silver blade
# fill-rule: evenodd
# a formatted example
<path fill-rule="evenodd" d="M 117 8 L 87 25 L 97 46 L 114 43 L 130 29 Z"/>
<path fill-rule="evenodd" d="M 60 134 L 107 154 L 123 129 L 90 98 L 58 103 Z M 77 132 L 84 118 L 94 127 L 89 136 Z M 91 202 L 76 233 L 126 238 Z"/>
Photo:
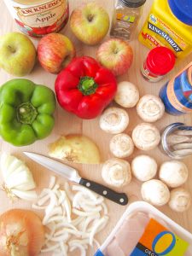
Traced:
<path fill-rule="evenodd" d="M 93 181 L 80 177 L 79 172 L 70 166 L 67 166 L 57 160 L 53 160 L 42 154 L 35 154 L 32 152 L 23 152 L 23 153 L 26 154 L 32 160 L 39 163 L 40 165 L 48 168 L 49 170 L 63 177 L 66 177 L 67 179 L 75 183 L 79 183 L 83 185 L 85 188 L 90 189 L 96 192 L 97 194 L 102 195 L 108 198 L 109 200 L 118 203 L 119 205 L 125 206 L 128 203 L 128 198 L 125 193 L 117 193 L 112 189 L 108 189 L 102 184 L 95 183 Z"/>

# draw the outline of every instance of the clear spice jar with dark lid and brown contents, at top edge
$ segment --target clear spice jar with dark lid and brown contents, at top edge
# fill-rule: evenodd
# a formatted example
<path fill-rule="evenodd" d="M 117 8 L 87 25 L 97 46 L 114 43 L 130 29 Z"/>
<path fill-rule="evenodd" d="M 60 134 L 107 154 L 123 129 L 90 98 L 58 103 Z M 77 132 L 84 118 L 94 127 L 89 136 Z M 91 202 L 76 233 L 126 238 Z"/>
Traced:
<path fill-rule="evenodd" d="M 146 0 L 117 0 L 110 36 L 130 40 Z"/>

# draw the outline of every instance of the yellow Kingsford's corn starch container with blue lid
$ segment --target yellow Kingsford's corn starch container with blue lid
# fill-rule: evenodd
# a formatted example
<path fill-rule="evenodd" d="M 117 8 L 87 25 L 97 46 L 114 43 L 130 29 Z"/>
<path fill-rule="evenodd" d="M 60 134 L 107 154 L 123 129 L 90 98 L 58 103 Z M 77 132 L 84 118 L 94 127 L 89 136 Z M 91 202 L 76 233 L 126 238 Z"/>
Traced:
<path fill-rule="evenodd" d="M 166 46 L 177 58 L 189 55 L 192 51 L 191 13 L 191 0 L 154 0 L 139 41 L 149 49 Z"/>

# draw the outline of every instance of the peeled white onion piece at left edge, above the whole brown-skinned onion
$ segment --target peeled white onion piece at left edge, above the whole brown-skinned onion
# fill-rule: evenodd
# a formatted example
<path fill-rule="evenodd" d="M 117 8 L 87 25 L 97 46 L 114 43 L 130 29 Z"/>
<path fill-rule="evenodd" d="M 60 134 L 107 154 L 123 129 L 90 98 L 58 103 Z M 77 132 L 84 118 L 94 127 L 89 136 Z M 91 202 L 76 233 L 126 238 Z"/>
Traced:
<path fill-rule="evenodd" d="M 37 194 L 32 189 L 36 184 L 29 168 L 15 156 L 1 154 L 1 172 L 3 175 L 3 189 L 10 198 L 15 196 L 26 201 L 37 198 Z"/>

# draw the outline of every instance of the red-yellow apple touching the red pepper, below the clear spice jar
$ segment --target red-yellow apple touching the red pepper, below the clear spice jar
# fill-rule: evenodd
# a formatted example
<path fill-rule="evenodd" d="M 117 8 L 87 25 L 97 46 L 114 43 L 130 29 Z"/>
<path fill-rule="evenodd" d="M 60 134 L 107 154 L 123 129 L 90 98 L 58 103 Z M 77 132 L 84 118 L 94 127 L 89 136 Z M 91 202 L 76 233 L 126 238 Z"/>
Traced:
<path fill-rule="evenodd" d="M 124 40 L 111 38 L 99 47 L 96 59 L 115 76 L 119 76 L 131 67 L 133 52 L 130 44 Z"/>

